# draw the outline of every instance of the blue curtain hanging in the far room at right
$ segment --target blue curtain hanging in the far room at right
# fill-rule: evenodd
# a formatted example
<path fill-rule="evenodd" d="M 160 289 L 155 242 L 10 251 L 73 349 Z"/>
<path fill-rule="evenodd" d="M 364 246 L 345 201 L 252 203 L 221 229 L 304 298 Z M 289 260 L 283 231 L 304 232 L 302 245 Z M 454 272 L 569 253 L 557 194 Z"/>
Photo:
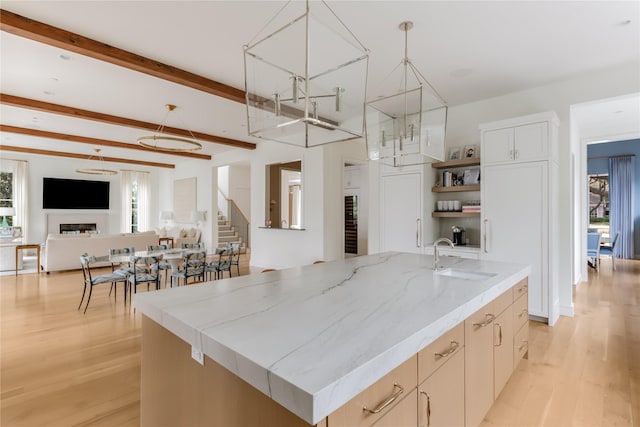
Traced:
<path fill-rule="evenodd" d="M 633 157 L 609 159 L 609 235 L 620 233 L 613 256 L 633 259 Z"/>

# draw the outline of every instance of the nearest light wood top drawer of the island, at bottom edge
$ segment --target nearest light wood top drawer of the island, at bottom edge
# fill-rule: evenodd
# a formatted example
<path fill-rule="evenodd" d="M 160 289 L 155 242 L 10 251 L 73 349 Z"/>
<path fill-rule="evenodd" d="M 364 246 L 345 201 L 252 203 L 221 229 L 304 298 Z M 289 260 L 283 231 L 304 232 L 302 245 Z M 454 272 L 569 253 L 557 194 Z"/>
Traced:
<path fill-rule="evenodd" d="M 331 427 L 370 426 L 411 394 L 418 385 L 417 380 L 418 356 L 414 355 L 330 414 L 327 419 L 328 425 Z M 388 405 L 380 409 L 385 403 Z M 417 396 L 413 400 L 413 405 L 414 412 L 417 414 Z"/>

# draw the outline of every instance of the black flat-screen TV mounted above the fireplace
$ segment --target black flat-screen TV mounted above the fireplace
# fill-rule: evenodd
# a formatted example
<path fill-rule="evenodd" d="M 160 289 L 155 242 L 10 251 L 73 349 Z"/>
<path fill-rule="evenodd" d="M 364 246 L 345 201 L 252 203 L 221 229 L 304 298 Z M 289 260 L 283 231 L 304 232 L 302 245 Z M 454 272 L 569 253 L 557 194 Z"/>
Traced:
<path fill-rule="evenodd" d="M 43 209 L 109 209 L 109 181 L 42 180 Z"/>

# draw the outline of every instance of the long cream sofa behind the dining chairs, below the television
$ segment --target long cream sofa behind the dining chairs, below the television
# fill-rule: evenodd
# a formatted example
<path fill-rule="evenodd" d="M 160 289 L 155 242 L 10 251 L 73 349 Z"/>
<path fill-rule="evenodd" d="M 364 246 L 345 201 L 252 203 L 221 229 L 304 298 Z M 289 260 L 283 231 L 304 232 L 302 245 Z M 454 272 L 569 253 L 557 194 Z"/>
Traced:
<path fill-rule="evenodd" d="M 157 245 L 159 236 L 155 231 L 119 234 L 49 234 L 42 248 L 42 269 L 47 273 L 62 270 L 79 270 L 80 255 L 109 255 L 109 249 L 133 247 L 146 250 L 148 245 Z M 101 264 L 96 264 L 99 266 Z M 102 263 L 109 265 L 109 263 Z"/>

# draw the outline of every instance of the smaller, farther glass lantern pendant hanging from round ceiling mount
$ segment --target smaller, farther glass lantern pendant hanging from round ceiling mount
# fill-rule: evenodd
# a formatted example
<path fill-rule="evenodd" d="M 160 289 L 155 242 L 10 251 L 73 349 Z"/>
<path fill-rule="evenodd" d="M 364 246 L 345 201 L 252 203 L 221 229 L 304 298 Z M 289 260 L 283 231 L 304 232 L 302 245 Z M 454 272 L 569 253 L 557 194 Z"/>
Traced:
<path fill-rule="evenodd" d="M 401 90 L 367 102 L 368 156 L 394 167 L 442 161 L 447 103 L 408 57 L 407 33 L 413 22 L 398 27 L 404 32 L 404 57 L 390 76 L 400 74 Z"/>

